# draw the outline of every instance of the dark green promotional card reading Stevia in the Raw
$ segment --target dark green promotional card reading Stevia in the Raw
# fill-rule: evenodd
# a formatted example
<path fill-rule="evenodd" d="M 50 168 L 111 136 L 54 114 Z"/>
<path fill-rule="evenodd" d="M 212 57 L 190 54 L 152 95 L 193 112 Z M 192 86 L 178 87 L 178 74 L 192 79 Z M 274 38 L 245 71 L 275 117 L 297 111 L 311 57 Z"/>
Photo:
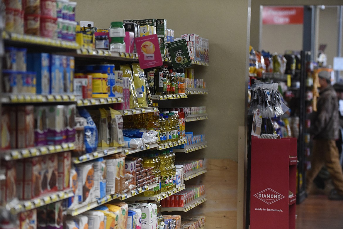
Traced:
<path fill-rule="evenodd" d="M 185 39 L 167 44 L 173 70 L 192 66 Z"/>

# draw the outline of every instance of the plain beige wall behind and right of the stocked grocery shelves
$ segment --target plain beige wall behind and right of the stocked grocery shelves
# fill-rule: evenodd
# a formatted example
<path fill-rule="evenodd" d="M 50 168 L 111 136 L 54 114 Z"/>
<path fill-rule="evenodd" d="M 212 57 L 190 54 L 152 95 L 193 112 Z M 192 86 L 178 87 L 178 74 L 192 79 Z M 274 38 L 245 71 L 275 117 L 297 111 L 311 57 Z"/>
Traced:
<path fill-rule="evenodd" d="M 210 91 L 205 155 L 237 161 L 238 126 L 245 125 L 248 0 L 81 0 L 76 10 L 77 21 L 94 21 L 98 28 L 124 19 L 165 18 L 176 37 L 197 33 L 209 38 L 210 66 L 196 69 Z"/>

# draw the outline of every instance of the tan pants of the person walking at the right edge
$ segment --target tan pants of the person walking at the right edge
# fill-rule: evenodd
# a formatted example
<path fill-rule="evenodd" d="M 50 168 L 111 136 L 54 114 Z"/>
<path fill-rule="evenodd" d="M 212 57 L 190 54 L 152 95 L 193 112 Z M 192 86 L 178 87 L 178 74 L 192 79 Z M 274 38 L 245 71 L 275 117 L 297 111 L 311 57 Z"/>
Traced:
<path fill-rule="evenodd" d="M 333 185 L 338 194 L 343 195 L 343 172 L 340 165 L 338 149 L 334 140 L 313 140 L 311 169 L 306 174 L 306 190 L 309 193 L 313 180 L 319 171 L 326 165 L 331 175 Z"/>

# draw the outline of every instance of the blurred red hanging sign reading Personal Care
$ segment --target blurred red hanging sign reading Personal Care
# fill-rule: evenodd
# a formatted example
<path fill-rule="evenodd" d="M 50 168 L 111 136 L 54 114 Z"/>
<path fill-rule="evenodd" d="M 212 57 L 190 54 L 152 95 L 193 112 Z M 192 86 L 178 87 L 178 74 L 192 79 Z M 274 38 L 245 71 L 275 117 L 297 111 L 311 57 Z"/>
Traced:
<path fill-rule="evenodd" d="M 262 23 L 271 25 L 303 24 L 304 7 L 263 7 Z"/>

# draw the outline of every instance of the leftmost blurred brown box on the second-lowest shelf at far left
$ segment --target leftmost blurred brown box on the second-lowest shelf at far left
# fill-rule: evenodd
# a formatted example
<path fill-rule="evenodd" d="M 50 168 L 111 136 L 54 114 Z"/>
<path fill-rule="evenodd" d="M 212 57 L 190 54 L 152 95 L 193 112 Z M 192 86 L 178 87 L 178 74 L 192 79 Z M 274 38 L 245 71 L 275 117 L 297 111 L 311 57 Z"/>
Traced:
<path fill-rule="evenodd" d="M 4 161 L 1 160 L 1 168 L 5 170 L 6 179 L 0 181 L 0 201 L 2 204 L 11 201 L 17 197 L 16 192 L 16 161 Z"/>

